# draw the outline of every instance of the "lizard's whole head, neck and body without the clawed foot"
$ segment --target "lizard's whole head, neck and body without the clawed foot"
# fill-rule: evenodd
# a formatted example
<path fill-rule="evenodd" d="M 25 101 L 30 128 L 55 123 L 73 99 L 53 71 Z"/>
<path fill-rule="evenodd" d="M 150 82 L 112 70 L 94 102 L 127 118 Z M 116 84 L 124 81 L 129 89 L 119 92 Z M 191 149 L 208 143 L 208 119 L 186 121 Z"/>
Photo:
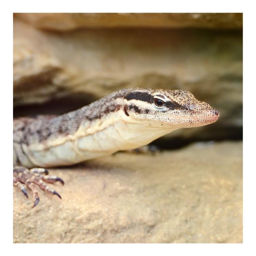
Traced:
<path fill-rule="evenodd" d="M 219 115 L 188 91 L 122 89 L 58 117 L 14 120 L 13 162 L 27 168 L 73 165 L 214 123 Z"/>

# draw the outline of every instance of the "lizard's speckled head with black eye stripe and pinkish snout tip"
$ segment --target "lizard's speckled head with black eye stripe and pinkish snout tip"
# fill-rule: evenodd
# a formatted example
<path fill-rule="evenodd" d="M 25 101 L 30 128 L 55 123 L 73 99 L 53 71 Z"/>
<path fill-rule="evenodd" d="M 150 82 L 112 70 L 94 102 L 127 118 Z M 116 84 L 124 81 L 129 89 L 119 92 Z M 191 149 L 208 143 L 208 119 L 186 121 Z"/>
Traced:
<path fill-rule="evenodd" d="M 134 89 L 125 96 L 124 111 L 133 121 L 163 128 L 188 128 L 218 120 L 220 112 L 184 90 Z"/>

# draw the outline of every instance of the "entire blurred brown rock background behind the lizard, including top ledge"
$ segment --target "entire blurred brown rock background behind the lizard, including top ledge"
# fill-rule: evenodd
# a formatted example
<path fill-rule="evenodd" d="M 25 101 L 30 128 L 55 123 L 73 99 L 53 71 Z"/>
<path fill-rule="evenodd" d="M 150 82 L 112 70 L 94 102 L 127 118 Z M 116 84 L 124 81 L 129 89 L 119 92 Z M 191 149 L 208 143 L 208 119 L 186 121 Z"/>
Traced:
<path fill-rule="evenodd" d="M 14 14 L 14 116 L 64 113 L 124 87 L 185 89 L 218 122 L 156 141 L 242 139 L 241 13 Z"/>

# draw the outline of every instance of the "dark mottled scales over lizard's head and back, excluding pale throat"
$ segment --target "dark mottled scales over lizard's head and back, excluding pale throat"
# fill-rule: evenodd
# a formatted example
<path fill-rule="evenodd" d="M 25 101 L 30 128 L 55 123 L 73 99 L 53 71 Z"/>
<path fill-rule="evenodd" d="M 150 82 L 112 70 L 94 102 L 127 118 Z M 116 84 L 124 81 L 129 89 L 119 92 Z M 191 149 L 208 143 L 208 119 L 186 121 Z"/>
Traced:
<path fill-rule="evenodd" d="M 164 109 L 154 106 L 154 97 L 165 100 Z M 193 110 L 190 110 L 192 107 Z M 97 120 L 106 122 L 109 113 L 121 110 L 129 122 L 141 120 L 152 126 L 173 128 L 194 127 L 211 123 L 209 116 L 218 116 L 219 111 L 206 102 L 197 100 L 191 92 L 183 90 L 122 89 L 60 116 L 37 116 L 18 118 L 13 123 L 15 159 L 24 158 L 21 144 L 44 144 L 56 138 L 75 134 L 79 127 L 87 129 Z"/>

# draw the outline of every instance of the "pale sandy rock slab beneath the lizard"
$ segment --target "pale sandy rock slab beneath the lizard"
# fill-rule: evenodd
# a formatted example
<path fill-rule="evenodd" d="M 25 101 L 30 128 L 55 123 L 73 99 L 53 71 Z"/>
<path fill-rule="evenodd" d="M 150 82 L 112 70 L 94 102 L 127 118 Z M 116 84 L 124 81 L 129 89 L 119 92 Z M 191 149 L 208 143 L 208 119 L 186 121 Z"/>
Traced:
<path fill-rule="evenodd" d="M 242 243 L 242 143 L 120 152 L 52 170 L 62 201 L 14 188 L 14 243 Z M 31 194 L 29 194 L 31 199 Z"/>

